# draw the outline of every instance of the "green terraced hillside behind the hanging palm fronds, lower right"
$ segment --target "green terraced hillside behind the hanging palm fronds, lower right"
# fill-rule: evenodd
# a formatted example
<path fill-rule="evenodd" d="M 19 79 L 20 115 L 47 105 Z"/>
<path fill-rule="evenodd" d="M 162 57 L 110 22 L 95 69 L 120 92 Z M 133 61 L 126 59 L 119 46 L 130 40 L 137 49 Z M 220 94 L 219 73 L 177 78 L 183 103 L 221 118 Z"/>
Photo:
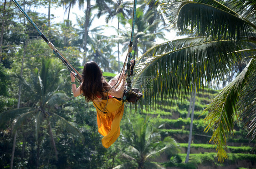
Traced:
<path fill-rule="evenodd" d="M 256 154 L 249 154 L 254 143 L 249 143 L 246 139 L 247 131 L 242 129 L 240 124 L 236 124 L 234 135 L 227 139 L 228 156 L 224 163 L 219 163 L 215 153 L 215 147 L 209 143 L 212 131 L 204 132 L 206 114 L 202 110 L 206 104 L 215 97 L 217 91 L 205 90 L 197 92 L 195 102 L 195 113 L 193 122 L 193 134 L 189 163 L 184 164 L 186 158 L 190 118 L 186 118 L 189 108 L 189 100 L 181 104 L 175 104 L 172 107 L 163 106 L 157 110 L 144 111 L 144 114 L 154 116 L 152 119 L 158 125 L 161 125 L 160 133 L 164 138 L 171 136 L 179 143 L 180 153 L 175 158 L 170 158 L 168 154 L 161 154 L 157 162 L 164 165 L 167 169 L 211 169 L 211 168 L 256 168 Z"/>

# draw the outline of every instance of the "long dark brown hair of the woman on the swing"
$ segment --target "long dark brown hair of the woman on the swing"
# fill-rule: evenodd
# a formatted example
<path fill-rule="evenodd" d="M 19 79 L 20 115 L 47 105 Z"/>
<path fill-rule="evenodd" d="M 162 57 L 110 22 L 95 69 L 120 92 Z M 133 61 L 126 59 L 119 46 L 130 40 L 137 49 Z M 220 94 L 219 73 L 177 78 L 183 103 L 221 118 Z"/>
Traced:
<path fill-rule="evenodd" d="M 87 62 L 82 71 L 82 88 L 81 91 L 85 96 L 86 101 L 94 100 L 97 95 L 103 97 L 104 85 L 106 80 L 102 76 L 102 71 L 96 62 Z"/>

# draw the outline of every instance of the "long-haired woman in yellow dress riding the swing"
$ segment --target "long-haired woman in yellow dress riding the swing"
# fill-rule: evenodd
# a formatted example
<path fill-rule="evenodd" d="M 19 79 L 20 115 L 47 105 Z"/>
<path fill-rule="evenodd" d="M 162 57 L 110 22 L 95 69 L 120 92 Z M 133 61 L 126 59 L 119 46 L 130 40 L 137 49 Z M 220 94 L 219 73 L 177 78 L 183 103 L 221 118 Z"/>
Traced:
<path fill-rule="evenodd" d="M 133 75 L 135 60 L 131 60 L 130 65 L 130 75 Z M 97 63 L 90 61 L 84 65 L 82 83 L 77 88 L 74 83 L 74 72 L 70 73 L 73 95 L 77 97 L 83 94 L 86 101 L 92 101 L 97 110 L 98 131 L 103 136 L 102 145 L 105 148 L 110 147 L 120 135 L 120 122 L 124 110 L 122 98 L 127 76 L 125 73 L 120 74 L 107 82 Z M 113 87 L 115 84 L 119 84 L 116 89 Z"/>

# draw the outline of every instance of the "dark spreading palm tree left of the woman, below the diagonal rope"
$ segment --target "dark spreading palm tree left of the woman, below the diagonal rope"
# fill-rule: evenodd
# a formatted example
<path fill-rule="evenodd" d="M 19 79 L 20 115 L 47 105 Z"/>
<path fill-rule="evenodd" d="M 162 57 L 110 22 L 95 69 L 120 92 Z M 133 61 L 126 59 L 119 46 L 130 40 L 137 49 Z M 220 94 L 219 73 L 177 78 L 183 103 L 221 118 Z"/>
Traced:
<path fill-rule="evenodd" d="M 54 107 L 60 104 L 63 104 L 66 94 L 61 91 L 53 90 L 53 87 L 58 82 L 58 74 L 61 69 L 57 69 L 55 74 L 50 72 L 49 68 L 51 67 L 51 60 L 42 60 L 42 69 L 39 72 L 37 69 L 34 72 L 33 85 L 27 84 L 22 78 L 23 85 L 25 85 L 30 91 L 32 91 L 37 98 L 36 103 L 31 107 L 23 107 L 18 109 L 12 109 L 0 114 L 0 126 L 6 123 L 6 121 L 13 120 L 13 132 L 15 133 L 17 129 L 21 128 L 28 119 L 34 119 L 36 124 L 36 141 L 37 141 L 37 167 L 39 166 L 39 149 L 40 142 L 38 135 L 41 131 L 41 124 L 45 123 L 48 127 L 48 134 L 51 138 L 51 144 L 55 151 L 55 156 L 57 159 L 57 149 L 55 145 L 54 136 L 51 129 L 51 119 L 54 117 L 58 120 L 61 120 L 67 129 L 70 129 L 72 133 L 79 134 L 82 138 L 82 134 L 67 120 L 62 118 L 60 115 L 54 113 Z M 31 87 L 32 86 L 32 87 Z"/>

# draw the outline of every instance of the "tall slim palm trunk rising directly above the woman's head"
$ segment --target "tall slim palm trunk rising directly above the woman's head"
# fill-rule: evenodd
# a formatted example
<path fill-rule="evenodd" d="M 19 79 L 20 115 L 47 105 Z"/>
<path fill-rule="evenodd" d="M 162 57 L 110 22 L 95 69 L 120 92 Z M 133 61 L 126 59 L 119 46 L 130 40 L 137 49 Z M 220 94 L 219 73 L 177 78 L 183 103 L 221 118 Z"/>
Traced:
<path fill-rule="evenodd" d="M 87 35 L 89 30 L 89 21 L 91 16 L 91 0 L 87 0 L 86 14 L 85 14 L 85 25 L 84 25 L 84 56 L 83 56 L 83 64 L 86 62 L 86 52 L 87 52 Z"/>

